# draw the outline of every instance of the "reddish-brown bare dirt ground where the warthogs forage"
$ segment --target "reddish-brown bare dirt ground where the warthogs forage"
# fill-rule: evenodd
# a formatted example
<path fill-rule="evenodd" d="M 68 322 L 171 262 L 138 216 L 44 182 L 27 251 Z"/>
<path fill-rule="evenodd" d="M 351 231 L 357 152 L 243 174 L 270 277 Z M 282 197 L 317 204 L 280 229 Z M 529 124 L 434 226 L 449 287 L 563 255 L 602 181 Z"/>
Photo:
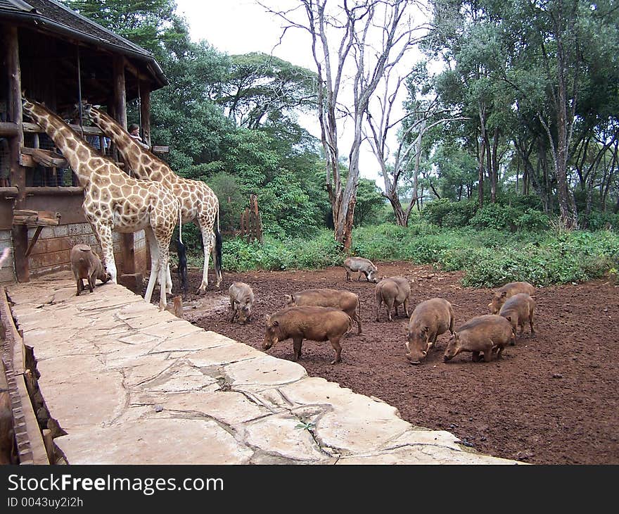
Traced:
<path fill-rule="evenodd" d="M 490 289 L 461 287 L 461 274 L 410 263 L 376 263 L 381 276 L 411 280 L 411 306 L 439 296 L 454 304 L 456 326 L 487 314 Z M 300 364 L 310 376 L 338 382 L 395 406 L 412 425 L 447 430 L 466 445 L 492 456 L 535 464 L 619 463 L 619 287 L 601 280 L 538 288 L 536 334 L 528 327 L 502 360 L 473 363 L 471 353 L 443 362 L 449 333 L 421 365 L 404 357 L 407 317 L 388 322 L 384 307 L 376 322 L 374 284 L 345 282 L 343 268 L 321 271 L 224 273 L 221 289 L 209 284 L 196 296 L 201 270 L 190 270 L 185 318 L 260 349 L 264 317 L 284 306 L 294 291 L 318 287 L 359 295 L 363 334 L 343 339 L 343 363 L 329 364 L 328 341 L 304 341 Z M 210 270 L 209 278 L 214 277 Z M 235 280 L 255 293 L 253 320 L 229 322 L 227 290 Z M 174 277 L 174 291 L 178 291 Z M 291 339 L 270 355 L 293 358 Z"/>

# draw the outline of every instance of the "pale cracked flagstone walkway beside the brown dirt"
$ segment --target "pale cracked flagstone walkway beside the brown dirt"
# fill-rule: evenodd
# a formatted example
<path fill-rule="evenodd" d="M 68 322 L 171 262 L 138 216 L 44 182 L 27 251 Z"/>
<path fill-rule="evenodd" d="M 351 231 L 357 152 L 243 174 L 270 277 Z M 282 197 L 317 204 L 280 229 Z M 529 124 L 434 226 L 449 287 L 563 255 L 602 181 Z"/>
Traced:
<path fill-rule="evenodd" d="M 513 464 L 307 376 L 125 287 L 70 272 L 9 286 L 70 464 Z"/>

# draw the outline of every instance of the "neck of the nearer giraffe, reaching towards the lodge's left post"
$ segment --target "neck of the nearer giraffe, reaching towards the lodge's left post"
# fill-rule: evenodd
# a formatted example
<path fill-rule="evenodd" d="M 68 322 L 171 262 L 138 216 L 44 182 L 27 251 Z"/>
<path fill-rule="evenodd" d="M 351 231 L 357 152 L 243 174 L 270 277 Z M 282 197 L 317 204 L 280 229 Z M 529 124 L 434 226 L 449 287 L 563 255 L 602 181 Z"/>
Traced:
<path fill-rule="evenodd" d="M 77 175 L 79 183 L 86 187 L 91 181 L 91 173 L 89 166 L 84 164 L 96 156 L 91 147 L 73 132 L 69 125 L 44 106 L 29 102 L 24 105 L 24 112 L 51 137 Z"/>

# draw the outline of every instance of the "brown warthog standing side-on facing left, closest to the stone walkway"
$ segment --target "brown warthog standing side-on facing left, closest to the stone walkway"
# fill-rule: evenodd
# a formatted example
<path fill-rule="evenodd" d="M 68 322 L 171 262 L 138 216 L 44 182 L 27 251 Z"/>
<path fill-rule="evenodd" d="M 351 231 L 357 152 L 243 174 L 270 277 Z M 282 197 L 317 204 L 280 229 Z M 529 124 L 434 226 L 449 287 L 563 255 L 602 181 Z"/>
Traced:
<path fill-rule="evenodd" d="M 277 343 L 293 339 L 294 361 L 301 357 L 303 339 L 330 341 L 336 351 L 331 364 L 342 361 L 340 339 L 352 330 L 352 318 L 344 311 L 331 307 L 300 306 L 286 307 L 273 315 L 267 315 L 267 331 L 262 349 L 268 350 Z"/>

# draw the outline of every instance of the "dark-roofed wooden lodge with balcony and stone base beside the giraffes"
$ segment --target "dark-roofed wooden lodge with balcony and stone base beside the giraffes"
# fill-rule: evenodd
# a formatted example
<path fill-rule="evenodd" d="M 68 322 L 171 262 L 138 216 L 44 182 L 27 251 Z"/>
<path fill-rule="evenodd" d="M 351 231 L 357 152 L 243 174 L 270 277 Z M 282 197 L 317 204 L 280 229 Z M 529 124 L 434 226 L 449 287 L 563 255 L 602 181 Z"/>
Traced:
<path fill-rule="evenodd" d="M 66 120 L 86 99 L 125 127 L 127 102 L 139 99 L 151 144 L 150 94 L 167 80 L 151 53 L 51 0 L 0 0 L 0 60 L 0 251 L 13 249 L 0 283 L 28 282 L 70 269 L 75 244 L 101 249 L 84 218 L 82 187 L 51 139 L 23 119 L 21 92 Z M 83 131 L 103 142 L 98 128 Z M 120 282 L 141 287 L 150 264 L 143 230 L 114 237 Z"/>

